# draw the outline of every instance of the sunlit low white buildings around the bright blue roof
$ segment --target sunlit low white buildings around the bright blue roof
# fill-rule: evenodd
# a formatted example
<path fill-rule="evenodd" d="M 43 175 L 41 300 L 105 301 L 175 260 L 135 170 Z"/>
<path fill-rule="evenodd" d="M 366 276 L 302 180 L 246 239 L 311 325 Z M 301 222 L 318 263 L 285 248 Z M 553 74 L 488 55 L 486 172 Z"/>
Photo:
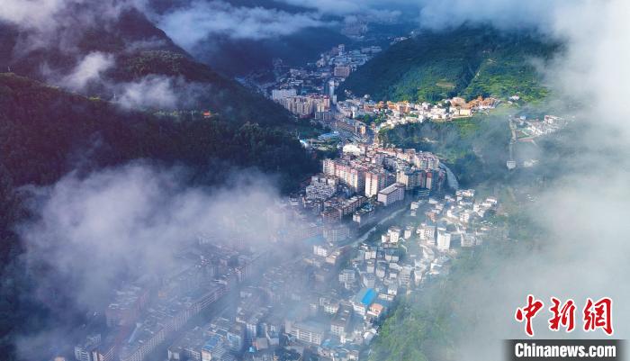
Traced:
<path fill-rule="evenodd" d="M 292 293 L 284 294 L 284 300 L 294 302 L 289 310 L 302 307 L 285 316 L 289 343 L 307 347 L 324 359 L 357 359 L 398 295 L 446 274 L 458 248 L 482 243 L 491 228 L 482 220 L 497 206 L 492 197 L 475 199 L 473 190 L 440 200 L 422 195 L 411 203 L 410 221 L 392 225 L 380 238 L 350 245 L 315 244 L 312 254 L 301 261 L 277 266 L 274 275 L 292 274 L 296 268 L 310 272 L 302 280 L 294 279 Z M 300 282 L 304 284 L 296 286 Z"/>

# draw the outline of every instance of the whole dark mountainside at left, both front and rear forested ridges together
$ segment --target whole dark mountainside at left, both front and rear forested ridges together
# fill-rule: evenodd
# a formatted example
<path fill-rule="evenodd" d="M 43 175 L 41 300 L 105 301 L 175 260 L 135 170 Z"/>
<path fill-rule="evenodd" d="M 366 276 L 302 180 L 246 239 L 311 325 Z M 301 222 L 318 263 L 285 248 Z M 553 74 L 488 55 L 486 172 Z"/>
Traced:
<path fill-rule="evenodd" d="M 80 16 L 83 10 L 69 11 L 69 23 L 47 34 L 0 23 L 0 69 L 11 70 L 0 73 L 0 353 L 6 360 L 18 359 L 17 335 L 76 317 L 62 295 L 56 311 L 32 297 L 32 278 L 46 271 L 26 264 L 15 233 L 31 217 L 23 186 L 142 161 L 184 166 L 196 185 L 257 168 L 288 192 L 318 168 L 287 131 L 293 117 L 281 106 L 196 61 L 138 11 L 73 23 L 92 19 Z M 47 42 L 32 47 L 29 40 Z M 66 86 L 94 54 L 113 66 L 92 72 L 85 86 L 67 87 L 76 93 L 46 84 Z M 156 102 L 124 106 L 124 96 L 147 95 Z M 210 117 L 202 115 L 206 110 Z"/>

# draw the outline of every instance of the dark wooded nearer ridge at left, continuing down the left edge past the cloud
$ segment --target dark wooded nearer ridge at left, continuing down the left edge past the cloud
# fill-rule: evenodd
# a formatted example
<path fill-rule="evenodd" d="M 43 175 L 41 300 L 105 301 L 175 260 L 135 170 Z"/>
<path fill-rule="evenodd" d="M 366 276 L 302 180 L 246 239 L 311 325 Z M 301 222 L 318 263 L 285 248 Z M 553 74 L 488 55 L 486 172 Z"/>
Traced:
<path fill-rule="evenodd" d="M 14 335 L 47 329 L 56 317 L 80 317 L 62 294 L 35 302 L 32 269 L 20 257 L 15 224 L 28 217 L 15 188 L 50 185 L 71 170 L 88 172 L 134 159 L 184 165 L 190 182 L 221 182 L 235 168 L 255 167 L 293 190 L 318 168 L 294 135 L 275 126 L 210 119 L 174 120 L 126 112 L 24 77 L 0 74 L 0 351 L 14 359 Z M 57 316 L 58 314 L 58 316 Z M 63 316 L 62 316 L 63 315 Z M 68 316 L 69 315 L 69 316 Z M 67 323 L 65 323 L 67 324 Z"/>

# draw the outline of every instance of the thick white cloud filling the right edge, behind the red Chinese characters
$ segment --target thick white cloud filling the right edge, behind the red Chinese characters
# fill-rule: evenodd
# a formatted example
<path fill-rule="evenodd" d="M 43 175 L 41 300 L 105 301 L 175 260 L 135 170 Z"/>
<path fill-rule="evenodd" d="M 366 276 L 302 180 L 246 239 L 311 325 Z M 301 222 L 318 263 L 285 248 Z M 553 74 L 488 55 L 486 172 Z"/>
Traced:
<path fill-rule="evenodd" d="M 465 310 L 479 320 L 474 334 L 461 340 L 463 360 L 498 359 L 504 338 L 523 338 L 513 320 L 527 293 L 549 302 L 550 296 L 572 297 L 580 312 L 586 297 L 610 296 L 615 301 L 615 338 L 630 328 L 630 3 L 608 1 L 467 1 L 425 2 L 421 25 L 444 29 L 464 23 L 491 24 L 503 30 L 536 30 L 563 41 L 563 49 L 543 75 L 557 104 L 579 114 L 584 131 L 572 139 L 579 153 L 563 159 L 569 171 L 541 185 L 541 199 L 529 212 L 545 233 L 531 253 L 487 259 L 457 290 Z M 545 157 L 545 155 L 543 155 Z M 533 225 L 534 226 L 534 225 Z M 498 271 L 497 271 L 498 270 Z M 548 304 L 547 304 L 548 307 Z M 546 315 L 546 313 L 545 313 Z M 535 324 L 540 338 L 598 338 L 581 330 L 548 331 L 546 318 Z M 484 347 L 479 347 L 484 345 Z"/>

